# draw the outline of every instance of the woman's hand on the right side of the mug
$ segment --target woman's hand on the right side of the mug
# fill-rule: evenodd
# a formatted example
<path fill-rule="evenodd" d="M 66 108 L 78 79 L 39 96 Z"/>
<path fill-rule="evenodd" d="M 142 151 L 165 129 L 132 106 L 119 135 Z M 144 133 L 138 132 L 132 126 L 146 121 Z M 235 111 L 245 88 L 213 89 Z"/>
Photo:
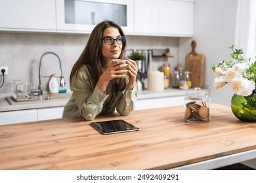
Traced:
<path fill-rule="evenodd" d="M 129 69 L 129 71 L 128 71 L 129 82 L 128 82 L 127 86 L 130 90 L 133 90 L 133 87 L 136 84 L 138 65 L 137 65 L 136 61 L 134 61 L 132 59 L 128 59 L 127 63 L 128 63 L 127 68 Z"/>

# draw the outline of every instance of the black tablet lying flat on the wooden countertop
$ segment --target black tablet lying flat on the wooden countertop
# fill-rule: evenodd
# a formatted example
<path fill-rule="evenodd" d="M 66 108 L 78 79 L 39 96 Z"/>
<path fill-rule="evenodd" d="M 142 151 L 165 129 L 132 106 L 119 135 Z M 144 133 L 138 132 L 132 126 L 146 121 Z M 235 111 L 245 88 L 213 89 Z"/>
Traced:
<path fill-rule="evenodd" d="M 91 125 L 103 134 L 139 131 L 139 127 L 129 124 L 124 120 L 111 120 L 104 122 L 91 122 Z"/>

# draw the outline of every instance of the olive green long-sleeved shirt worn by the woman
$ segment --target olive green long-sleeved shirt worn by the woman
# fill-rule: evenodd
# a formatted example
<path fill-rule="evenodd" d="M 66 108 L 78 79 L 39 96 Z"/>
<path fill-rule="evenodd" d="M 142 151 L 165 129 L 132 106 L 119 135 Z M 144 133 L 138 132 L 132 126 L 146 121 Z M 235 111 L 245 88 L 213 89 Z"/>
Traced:
<path fill-rule="evenodd" d="M 113 113 L 116 111 L 121 116 L 127 116 L 135 108 L 137 101 L 137 85 L 133 90 L 128 87 L 123 91 L 118 91 L 110 99 L 108 93 L 112 82 L 108 83 L 105 92 L 102 92 L 98 86 L 94 89 L 91 76 L 86 65 L 83 65 L 72 78 L 72 96 L 64 107 L 62 118 L 82 116 L 85 120 L 94 120 L 98 114 Z"/>

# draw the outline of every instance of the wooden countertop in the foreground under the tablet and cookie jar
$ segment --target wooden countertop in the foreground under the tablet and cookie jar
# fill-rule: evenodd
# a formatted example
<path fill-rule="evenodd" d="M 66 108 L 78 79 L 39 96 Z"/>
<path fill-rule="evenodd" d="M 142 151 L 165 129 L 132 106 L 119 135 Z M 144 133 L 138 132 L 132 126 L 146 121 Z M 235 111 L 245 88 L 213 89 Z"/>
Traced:
<path fill-rule="evenodd" d="M 256 123 L 211 105 L 211 121 L 184 122 L 184 107 L 137 110 L 140 131 L 101 135 L 83 118 L 0 126 L 0 169 L 171 169 L 256 149 Z"/>

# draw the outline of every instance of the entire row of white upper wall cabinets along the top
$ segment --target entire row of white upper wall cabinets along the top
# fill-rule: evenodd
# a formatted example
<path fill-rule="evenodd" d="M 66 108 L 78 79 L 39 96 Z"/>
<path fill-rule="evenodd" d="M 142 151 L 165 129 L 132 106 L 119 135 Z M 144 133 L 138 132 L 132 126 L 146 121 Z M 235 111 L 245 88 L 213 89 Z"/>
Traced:
<path fill-rule="evenodd" d="M 112 20 L 127 35 L 194 34 L 194 0 L 0 0 L 0 17 L 0 31 L 91 33 Z"/>

